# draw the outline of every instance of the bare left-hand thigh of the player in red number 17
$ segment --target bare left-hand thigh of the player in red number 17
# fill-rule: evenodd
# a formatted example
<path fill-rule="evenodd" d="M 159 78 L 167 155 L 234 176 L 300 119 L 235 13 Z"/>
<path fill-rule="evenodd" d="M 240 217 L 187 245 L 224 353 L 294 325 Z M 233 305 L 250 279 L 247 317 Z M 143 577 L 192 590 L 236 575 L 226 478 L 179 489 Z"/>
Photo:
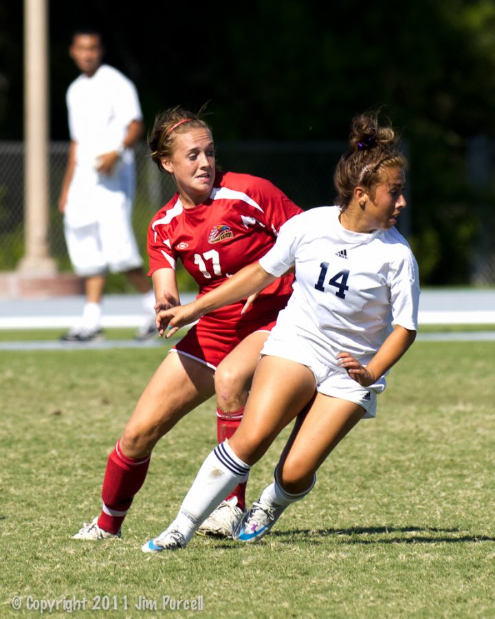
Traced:
<path fill-rule="evenodd" d="M 212 369 L 175 351 L 170 352 L 146 385 L 126 431 L 157 439 L 213 393 Z"/>

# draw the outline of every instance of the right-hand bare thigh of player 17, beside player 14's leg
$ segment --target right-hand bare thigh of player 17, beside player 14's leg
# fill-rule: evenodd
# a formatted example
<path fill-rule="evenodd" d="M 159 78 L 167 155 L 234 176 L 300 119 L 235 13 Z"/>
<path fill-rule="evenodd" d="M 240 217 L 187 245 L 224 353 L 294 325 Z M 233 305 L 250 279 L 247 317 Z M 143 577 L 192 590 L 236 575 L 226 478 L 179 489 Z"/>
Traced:
<path fill-rule="evenodd" d="M 219 398 L 228 400 L 233 397 L 234 392 L 247 392 L 250 389 L 261 349 L 269 335 L 266 331 L 256 331 L 248 335 L 219 363 L 214 374 Z M 243 403 L 240 404 L 242 405 Z"/>

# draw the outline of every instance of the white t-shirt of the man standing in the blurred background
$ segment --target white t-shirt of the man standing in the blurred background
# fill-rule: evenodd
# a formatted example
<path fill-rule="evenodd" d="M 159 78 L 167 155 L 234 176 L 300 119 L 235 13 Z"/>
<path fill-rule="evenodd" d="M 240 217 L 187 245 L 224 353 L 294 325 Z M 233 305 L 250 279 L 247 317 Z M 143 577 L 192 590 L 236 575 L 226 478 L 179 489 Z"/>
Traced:
<path fill-rule="evenodd" d="M 69 186 L 65 219 L 78 227 L 98 221 L 107 205 L 130 210 L 134 153 L 126 149 L 111 175 L 96 171 L 98 156 L 118 149 L 129 124 L 142 119 L 135 86 L 120 71 L 101 65 L 91 76 L 81 74 L 67 89 L 69 133 L 76 142 L 76 167 Z"/>

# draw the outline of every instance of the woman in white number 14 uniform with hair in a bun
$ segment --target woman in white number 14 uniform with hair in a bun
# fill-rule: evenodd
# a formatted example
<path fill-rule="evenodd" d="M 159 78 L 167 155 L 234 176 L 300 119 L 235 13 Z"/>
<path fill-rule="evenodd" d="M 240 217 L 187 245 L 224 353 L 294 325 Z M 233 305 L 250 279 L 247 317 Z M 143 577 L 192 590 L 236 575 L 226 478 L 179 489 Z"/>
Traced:
<path fill-rule="evenodd" d="M 219 498 L 297 417 L 274 482 L 234 530 L 234 539 L 261 539 L 313 488 L 338 442 L 375 416 L 386 373 L 415 340 L 417 263 L 394 227 L 406 206 L 406 160 L 393 129 L 377 116 L 356 117 L 349 142 L 334 177 L 338 206 L 290 219 L 259 261 L 197 301 L 157 314 L 160 332 L 172 334 L 295 266 L 294 292 L 261 351 L 239 428 L 208 455 L 177 517 L 144 552 L 185 547 Z"/>

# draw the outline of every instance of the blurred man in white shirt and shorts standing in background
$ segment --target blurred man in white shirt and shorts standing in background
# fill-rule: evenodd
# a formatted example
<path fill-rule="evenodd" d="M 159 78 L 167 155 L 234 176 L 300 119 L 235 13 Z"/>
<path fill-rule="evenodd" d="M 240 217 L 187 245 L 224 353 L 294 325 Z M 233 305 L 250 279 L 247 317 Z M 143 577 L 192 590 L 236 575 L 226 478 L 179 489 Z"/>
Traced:
<path fill-rule="evenodd" d="M 132 146 L 143 132 L 135 86 L 102 64 L 99 32 L 78 30 L 70 56 L 80 76 L 67 89 L 71 144 L 58 208 L 64 215 L 67 250 L 84 279 L 83 316 L 63 340 L 102 338 L 102 296 L 107 270 L 126 274 L 142 294 L 137 339 L 155 336 L 155 295 L 143 270 L 132 228 L 135 163 Z"/>

